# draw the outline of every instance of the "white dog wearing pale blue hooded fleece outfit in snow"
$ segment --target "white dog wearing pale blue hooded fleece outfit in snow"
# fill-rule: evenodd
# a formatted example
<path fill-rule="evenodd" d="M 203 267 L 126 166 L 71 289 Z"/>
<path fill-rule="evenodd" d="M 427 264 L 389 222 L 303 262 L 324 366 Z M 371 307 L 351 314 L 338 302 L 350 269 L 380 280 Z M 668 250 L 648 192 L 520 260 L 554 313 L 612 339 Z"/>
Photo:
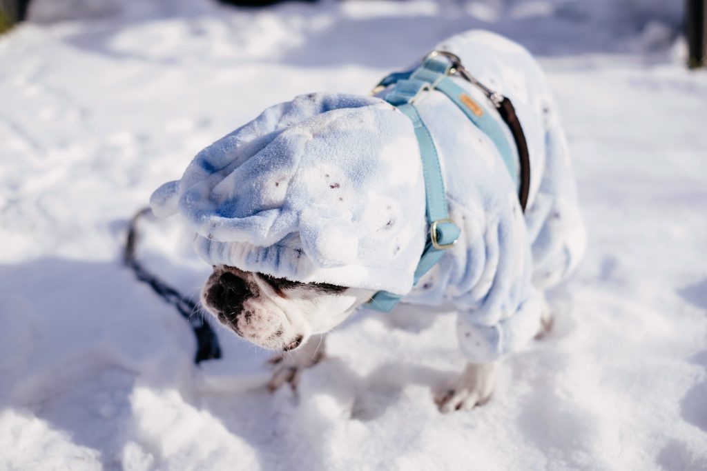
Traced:
<path fill-rule="evenodd" d="M 460 235 L 419 280 L 430 231 L 426 180 L 411 120 L 382 100 L 390 87 L 375 97 L 313 93 L 270 107 L 153 193 L 153 212 L 180 213 L 197 233 L 197 253 L 214 267 L 201 292 L 206 311 L 255 345 L 291 352 L 276 366 L 271 390 L 296 383 L 322 357 L 324 335 L 378 292 L 431 310 L 451 302 L 459 311 L 468 363 L 437 395 L 442 412 L 489 400 L 498 362 L 549 326 L 542 293 L 573 271 L 585 249 L 549 86 L 525 49 L 491 32 L 465 32 L 436 50 L 455 54 L 513 101 L 530 187 L 524 213 L 495 142 L 448 97 L 424 91 L 415 105 L 436 145 Z M 474 112 L 487 113 L 513 142 L 488 96 L 452 80 Z"/>

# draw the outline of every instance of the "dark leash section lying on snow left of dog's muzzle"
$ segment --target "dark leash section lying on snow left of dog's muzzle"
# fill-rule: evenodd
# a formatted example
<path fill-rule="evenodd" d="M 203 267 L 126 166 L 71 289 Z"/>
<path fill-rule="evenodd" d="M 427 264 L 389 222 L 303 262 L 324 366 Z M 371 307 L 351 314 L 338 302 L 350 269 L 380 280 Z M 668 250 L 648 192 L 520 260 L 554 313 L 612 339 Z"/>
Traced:
<path fill-rule="evenodd" d="M 199 303 L 159 280 L 155 275 L 148 272 L 135 257 L 137 222 L 141 217 L 150 213 L 152 213 L 150 208 L 144 208 L 139 210 L 130 221 L 123 261 L 125 265 L 132 268 L 138 280 L 150 285 L 152 290 L 156 292 L 159 297 L 164 299 L 167 304 L 174 306 L 179 314 L 186 319 L 189 326 L 192 326 L 194 335 L 197 338 L 197 354 L 194 358 L 194 363 L 199 364 L 199 362 L 203 360 L 221 358 L 221 347 L 218 345 L 218 338 L 211 328 L 211 325 L 209 325 L 209 322 L 201 316 Z"/>

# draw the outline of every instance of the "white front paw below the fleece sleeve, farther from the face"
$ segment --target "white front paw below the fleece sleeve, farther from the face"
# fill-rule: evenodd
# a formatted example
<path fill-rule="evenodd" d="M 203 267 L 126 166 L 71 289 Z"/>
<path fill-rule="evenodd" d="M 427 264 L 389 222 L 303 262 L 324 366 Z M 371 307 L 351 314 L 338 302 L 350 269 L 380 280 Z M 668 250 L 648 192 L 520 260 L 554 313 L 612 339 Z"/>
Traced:
<path fill-rule="evenodd" d="M 495 363 L 467 364 L 454 386 L 435 398 L 440 412 L 446 414 L 452 410 L 470 410 L 484 405 L 493 393 L 495 374 Z"/>

